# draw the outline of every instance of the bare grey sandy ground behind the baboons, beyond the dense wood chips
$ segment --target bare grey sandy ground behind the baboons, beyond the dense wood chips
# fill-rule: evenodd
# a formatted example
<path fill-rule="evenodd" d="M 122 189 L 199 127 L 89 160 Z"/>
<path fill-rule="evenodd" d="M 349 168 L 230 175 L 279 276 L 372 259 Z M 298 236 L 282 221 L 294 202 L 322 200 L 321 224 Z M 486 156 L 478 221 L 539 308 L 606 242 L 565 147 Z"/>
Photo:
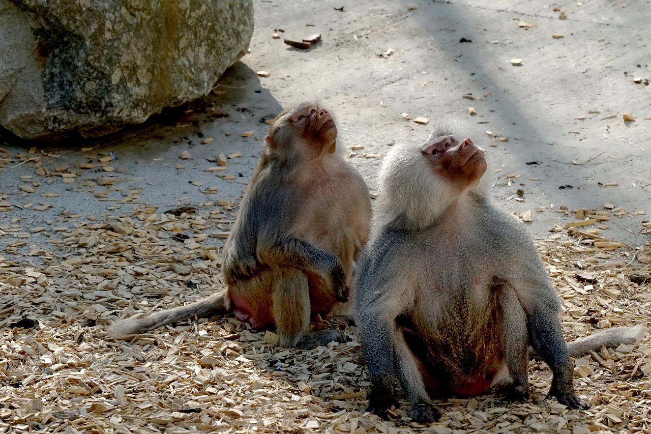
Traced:
<path fill-rule="evenodd" d="M 627 246 L 602 259 L 637 267 L 636 248 L 648 251 L 650 240 L 650 6 L 256 1 L 251 52 L 203 100 L 104 139 L 38 145 L 0 135 L 0 260 L 41 267 L 36 252 L 48 252 L 46 262 L 76 257 L 80 244 L 62 242 L 70 227 L 115 223 L 145 207 L 228 214 L 260 155 L 264 119 L 316 98 L 337 117 L 373 195 L 389 147 L 426 139 L 439 120 L 465 119 L 488 151 L 499 208 L 516 218 L 531 211 L 536 239 L 604 211 L 607 220 L 581 229 Z M 313 33 L 322 42 L 311 50 L 283 43 Z M 228 231 L 229 221 L 211 230 Z M 218 250 L 217 232 L 197 240 Z"/>

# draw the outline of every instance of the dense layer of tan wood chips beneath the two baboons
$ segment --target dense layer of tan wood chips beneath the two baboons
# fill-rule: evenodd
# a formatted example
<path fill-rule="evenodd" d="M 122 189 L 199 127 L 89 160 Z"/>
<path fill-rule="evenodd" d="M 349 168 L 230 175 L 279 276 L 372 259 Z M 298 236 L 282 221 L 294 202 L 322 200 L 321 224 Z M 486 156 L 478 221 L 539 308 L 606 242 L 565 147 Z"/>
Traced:
<path fill-rule="evenodd" d="M 107 222 L 72 214 L 51 229 L 48 251 L 29 247 L 31 228 L 0 226 L 0 432 L 651 432 L 648 334 L 576 360 L 587 411 L 544 399 L 551 371 L 532 360 L 531 401 L 436 399 L 443 417 L 430 425 L 411 422 L 407 405 L 391 420 L 366 412 L 355 328 L 337 319 L 314 326 L 339 328 L 349 341 L 312 351 L 275 347 L 274 333 L 229 315 L 111 340 L 104 329 L 118 317 L 223 285 L 219 242 L 234 218 L 232 203 L 222 205 L 176 216 L 136 205 Z M 613 252 L 575 227 L 555 230 L 538 248 L 564 303 L 568 340 L 648 324 L 650 248 Z"/>

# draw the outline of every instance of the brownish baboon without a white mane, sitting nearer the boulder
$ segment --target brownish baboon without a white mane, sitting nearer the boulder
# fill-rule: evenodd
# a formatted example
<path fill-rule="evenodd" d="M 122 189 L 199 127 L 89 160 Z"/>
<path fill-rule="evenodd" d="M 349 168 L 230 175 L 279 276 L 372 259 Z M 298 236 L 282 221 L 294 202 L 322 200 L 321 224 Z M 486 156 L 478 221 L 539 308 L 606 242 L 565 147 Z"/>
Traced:
<path fill-rule="evenodd" d="M 317 104 L 287 108 L 271 124 L 262 158 L 224 247 L 227 289 L 187 306 L 118 321 L 113 336 L 233 311 L 253 328 L 276 328 L 283 347 L 342 341 L 309 333 L 311 314 L 348 298 L 357 252 L 368 238 L 370 195 L 337 152 L 337 126 Z"/>

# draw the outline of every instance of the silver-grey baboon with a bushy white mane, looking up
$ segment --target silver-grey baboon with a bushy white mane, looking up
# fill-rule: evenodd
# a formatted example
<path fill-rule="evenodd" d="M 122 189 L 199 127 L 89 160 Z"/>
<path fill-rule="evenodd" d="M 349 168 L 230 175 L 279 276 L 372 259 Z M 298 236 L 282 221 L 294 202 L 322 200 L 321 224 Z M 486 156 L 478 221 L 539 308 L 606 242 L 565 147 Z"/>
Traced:
<path fill-rule="evenodd" d="M 385 156 L 370 238 L 359 255 L 355 311 L 370 373 L 369 409 L 394 402 L 400 379 L 409 416 L 441 416 L 426 388 L 474 396 L 510 377 L 510 399 L 529 397 L 529 345 L 549 365 L 548 396 L 572 409 L 570 354 L 632 343 L 643 326 L 563 340 L 559 297 L 525 229 L 490 203 L 484 151 L 455 123 L 422 145 Z"/>

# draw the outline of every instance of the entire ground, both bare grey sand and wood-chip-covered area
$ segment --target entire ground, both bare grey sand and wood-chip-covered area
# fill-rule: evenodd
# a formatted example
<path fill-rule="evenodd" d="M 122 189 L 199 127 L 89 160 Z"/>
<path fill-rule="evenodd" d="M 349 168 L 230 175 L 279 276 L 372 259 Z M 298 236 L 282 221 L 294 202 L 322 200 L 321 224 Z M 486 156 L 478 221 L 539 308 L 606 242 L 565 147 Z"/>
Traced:
<path fill-rule="evenodd" d="M 563 300 L 566 338 L 648 325 L 648 2 L 348 3 L 256 1 L 251 52 L 214 93 L 123 134 L 0 136 L 0 431 L 651 431 L 648 334 L 576 360 L 588 411 L 543 399 L 551 373 L 532 361 L 531 402 L 437 399 L 443 418 L 429 426 L 405 405 L 390 421 L 365 412 L 368 375 L 344 323 L 347 343 L 313 351 L 275 347 L 229 316 L 106 336 L 118 315 L 221 286 L 264 119 L 312 98 L 337 117 L 373 196 L 391 145 L 465 120 L 496 205 L 533 220 L 522 224 Z M 314 33 L 310 50 L 283 43 Z M 179 206 L 196 212 L 165 214 Z"/>

